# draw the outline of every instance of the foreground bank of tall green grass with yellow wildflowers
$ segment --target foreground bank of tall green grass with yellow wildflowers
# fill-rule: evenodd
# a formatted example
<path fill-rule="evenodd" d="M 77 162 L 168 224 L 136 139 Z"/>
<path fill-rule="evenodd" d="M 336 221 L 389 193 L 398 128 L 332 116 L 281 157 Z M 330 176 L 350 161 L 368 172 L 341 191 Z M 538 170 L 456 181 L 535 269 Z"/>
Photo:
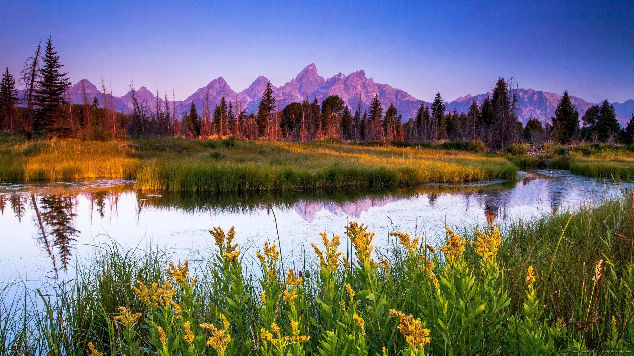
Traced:
<path fill-rule="evenodd" d="M 179 264 L 100 245 L 70 281 L 3 284 L 0 354 L 631 352 L 633 217 L 626 194 L 501 230 L 446 227 L 440 248 L 396 228 L 375 247 L 357 222 L 302 251 L 214 227 L 209 254 Z"/>

